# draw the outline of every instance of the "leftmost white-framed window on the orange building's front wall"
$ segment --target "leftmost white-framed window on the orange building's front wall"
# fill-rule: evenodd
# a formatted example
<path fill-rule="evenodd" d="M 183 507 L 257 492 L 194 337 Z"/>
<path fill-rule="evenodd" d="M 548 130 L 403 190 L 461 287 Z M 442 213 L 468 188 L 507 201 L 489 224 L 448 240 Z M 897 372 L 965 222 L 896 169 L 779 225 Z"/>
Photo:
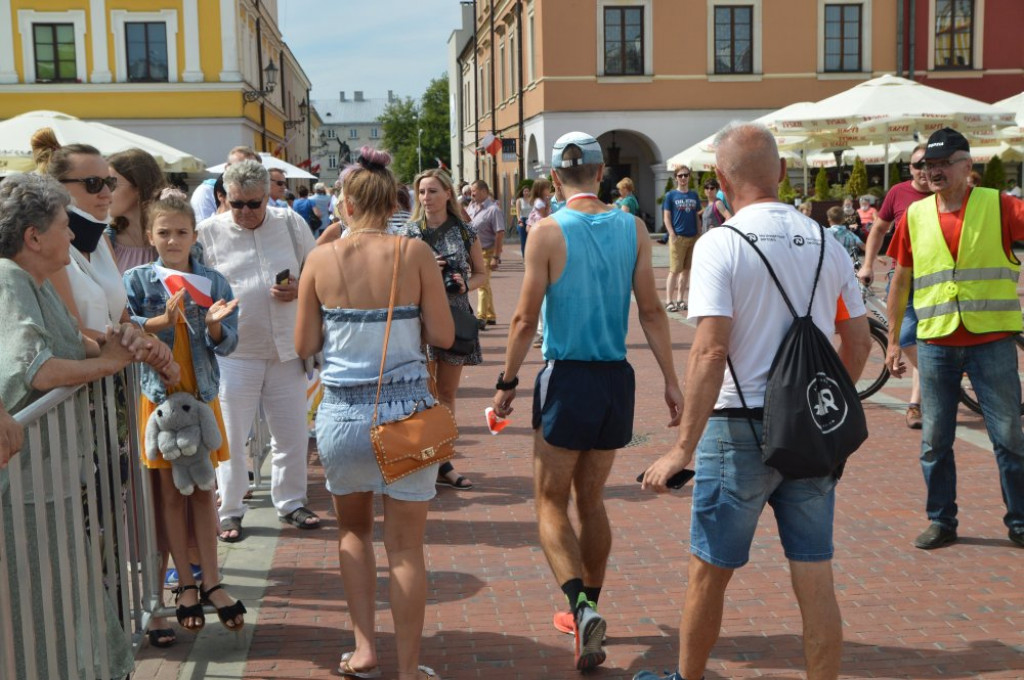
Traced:
<path fill-rule="evenodd" d="M 598 75 L 651 75 L 654 58 L 651 22 L 651 0 L 598 0 Z"/>

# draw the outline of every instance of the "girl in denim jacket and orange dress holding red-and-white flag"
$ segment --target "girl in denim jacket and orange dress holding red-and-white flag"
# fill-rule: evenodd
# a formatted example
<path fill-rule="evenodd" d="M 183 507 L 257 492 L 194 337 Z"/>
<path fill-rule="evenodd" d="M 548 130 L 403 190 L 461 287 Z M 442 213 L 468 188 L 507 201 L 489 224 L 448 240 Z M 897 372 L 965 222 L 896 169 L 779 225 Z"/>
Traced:
<path fill-rule="evenodd" d="M 220 273 L 191 256 L 196 216 L 183 194 L 173 188 L 161 192 L 146 209 L 146 223 L 150 243 L 160 257 L 153 264 L 125 272 L 128 308 L 133 322 L 172 347 L 181 367 L 181 380 L 168 386 L 157 372 L 142 367 L 138 422 L 144 429 L 150 415 L 169 393 L 195 394 L 211 407 L 221 430 L 224 443 L 210 454 L 216 466 L 218 461 L 228 458 L 217 399 L 220 374 L 216 357 L 231 353 L 238 344 L 238 300 Z M 144 431 L 139 432 L 139 438 L 144 440 Z M 151 461 L 144 454 L 142 463 L 159 470 L 163 507 L 157 508 L 157 515 L 164 524 L 174 563 L 188 564 L 189 535 L 199 549 L 204 588 L 197 586 L 190 569 L 179 569 L 180 586 L 174 591 L 178 623 L 198 632 L 205 624 L 202 603 L 209 602 L 216 607 L 225 628 L 241 629 L 245 624 L 242 615 L 245 605 L 220 587 L 214 493 L 197 488 L 189 497 L 190 512 L 186 512 L 188 506 L 174 485 L 170 463 Z"/>

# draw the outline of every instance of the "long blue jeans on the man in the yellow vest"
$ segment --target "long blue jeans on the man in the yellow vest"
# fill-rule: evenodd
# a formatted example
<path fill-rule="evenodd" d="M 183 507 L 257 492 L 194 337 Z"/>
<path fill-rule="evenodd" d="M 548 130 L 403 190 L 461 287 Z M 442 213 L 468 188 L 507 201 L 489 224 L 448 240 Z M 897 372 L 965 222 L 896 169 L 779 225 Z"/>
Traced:
<path fill-rule="evenodd" d="M 999 485 L 1010 528 L 1024 528 L 1024 432 L 1021 430 L 1021 385 L 1014 338 L 973 347 L 946 347 L 918 342 L 921 373 L 921 468 L 928 487 L 928 518 L 956 528 L 956 407 L 966 372 L 981 403 L 988 438 L 999 469 Z"/>

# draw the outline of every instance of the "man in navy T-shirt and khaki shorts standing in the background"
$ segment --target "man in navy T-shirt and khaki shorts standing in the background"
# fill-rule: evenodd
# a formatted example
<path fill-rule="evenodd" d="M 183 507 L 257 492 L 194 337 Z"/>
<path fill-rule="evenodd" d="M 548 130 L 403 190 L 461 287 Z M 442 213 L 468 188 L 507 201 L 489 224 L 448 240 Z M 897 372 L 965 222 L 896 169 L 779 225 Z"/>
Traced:
<path fill-rule="evenodd" d="M 662 215 L 669 232 L 669 279 L 665 284 L 665 308 L 686 311 L 686 294 L 690 286 L 690 262 L 693 244 L 697 241 L 697 218 L 700 197 L 690 190 L 690 169 L 676 168 L 676 188 L 665 195 Z"/>

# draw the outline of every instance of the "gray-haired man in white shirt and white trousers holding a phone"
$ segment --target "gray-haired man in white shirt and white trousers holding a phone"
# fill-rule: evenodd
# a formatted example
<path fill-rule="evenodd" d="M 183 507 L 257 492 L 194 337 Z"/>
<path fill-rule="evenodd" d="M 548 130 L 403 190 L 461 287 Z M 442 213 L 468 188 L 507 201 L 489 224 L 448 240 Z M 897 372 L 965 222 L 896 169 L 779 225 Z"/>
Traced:
<path fill-rule="evenodd" d="M 217 468 L 218 538 L 242 538 L 249 488 L 246 438 L 260 401 L 273 437 L 270 498 L 281 521 L 316 528 L 306 505 L 306 378 L 295 353 L 298 277 L 315 242 L 295 212 L 267 205 L 270 175 L 243 161 L 224 171 L 227 212 L 199 225 L 206 264 L 227 279 L 239 300 L 239 346 L 218 357 L 220 402 L 230 460 Z"/>

